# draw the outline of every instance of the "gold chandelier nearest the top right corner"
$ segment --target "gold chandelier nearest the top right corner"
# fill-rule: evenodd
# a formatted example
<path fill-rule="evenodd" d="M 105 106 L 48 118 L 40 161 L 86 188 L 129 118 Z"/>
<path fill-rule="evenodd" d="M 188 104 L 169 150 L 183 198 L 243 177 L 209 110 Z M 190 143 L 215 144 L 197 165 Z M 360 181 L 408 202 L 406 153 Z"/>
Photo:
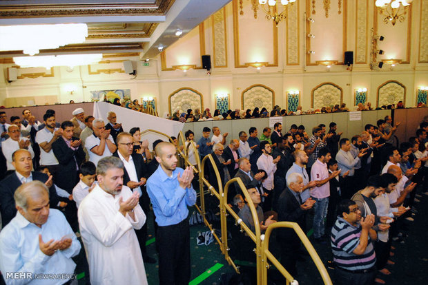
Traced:
<path fill-rule="evenodd" d="M 396 25 L 396 21 L 404 21 L 407 10 L 409 10 L 410 3 L 413 0 L 376 0 L 375 4 L 380 14 L 384 15 L 383 21 L 385 23 L 391 22 Z"/>

